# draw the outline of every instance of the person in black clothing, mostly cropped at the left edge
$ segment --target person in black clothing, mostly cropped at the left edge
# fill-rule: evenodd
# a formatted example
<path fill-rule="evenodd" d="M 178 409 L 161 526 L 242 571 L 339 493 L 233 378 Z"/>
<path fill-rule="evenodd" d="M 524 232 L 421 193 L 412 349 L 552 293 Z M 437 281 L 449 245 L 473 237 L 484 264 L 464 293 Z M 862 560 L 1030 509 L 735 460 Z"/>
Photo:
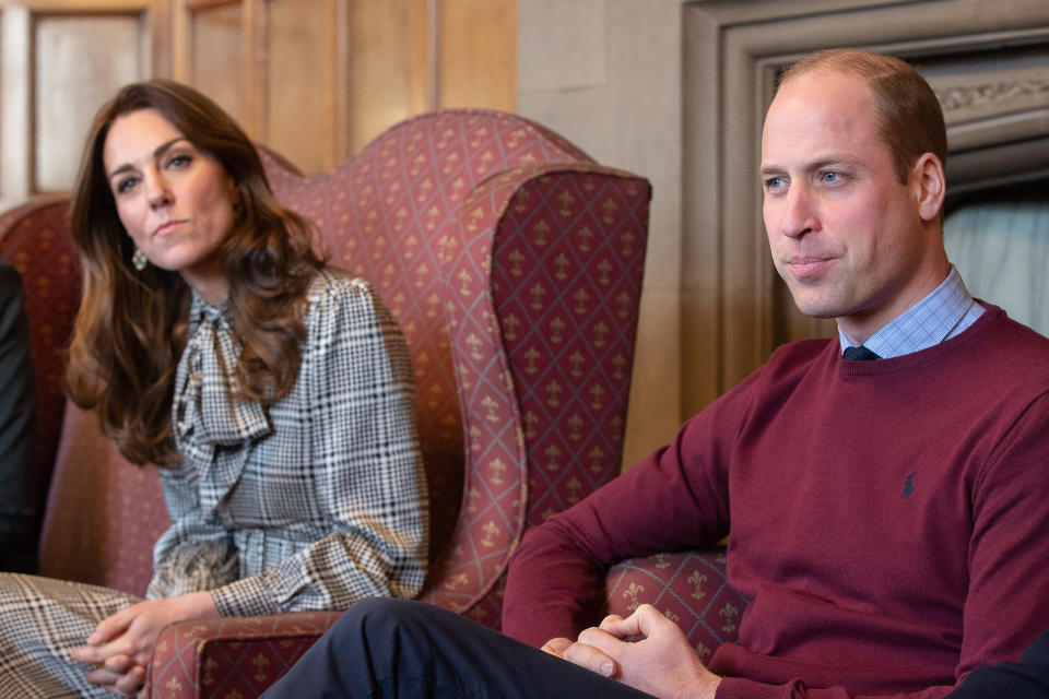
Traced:
<path fill-rule="evenodd" d="M 0 260 L 0 571 L 36 572 L 36 386 L 22 277 Z"/>

